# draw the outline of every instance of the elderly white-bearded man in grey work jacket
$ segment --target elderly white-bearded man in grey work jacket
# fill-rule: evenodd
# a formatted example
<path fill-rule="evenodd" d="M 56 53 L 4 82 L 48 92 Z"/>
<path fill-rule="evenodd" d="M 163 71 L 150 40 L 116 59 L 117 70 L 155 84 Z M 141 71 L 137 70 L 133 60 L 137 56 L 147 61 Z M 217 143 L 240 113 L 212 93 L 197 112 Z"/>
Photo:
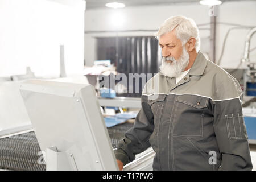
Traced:
<path fill-rule="evenodd" d="M 238 81 L 199 51 L 192 19 L 172 16 L 156 37 L 162 66 L 115 151 L 119 169 L 151 146 L 154 170 L 251 170 Z"/>

